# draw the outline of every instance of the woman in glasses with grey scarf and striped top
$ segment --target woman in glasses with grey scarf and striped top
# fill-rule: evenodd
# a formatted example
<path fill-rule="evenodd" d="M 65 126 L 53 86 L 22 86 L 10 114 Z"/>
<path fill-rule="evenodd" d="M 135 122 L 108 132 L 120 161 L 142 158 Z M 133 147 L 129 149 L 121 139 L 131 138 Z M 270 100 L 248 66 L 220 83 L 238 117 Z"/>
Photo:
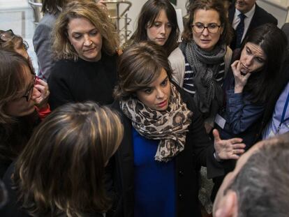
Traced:
<path fill-rule="evenodd" d="M 193 97 L 209 133 L 223 105 L 221 86 L 232 56 L 230 25 L 221 0 L 193 1 L 188 13 L 183 41 L 169 57 L 172 78 Z"/>

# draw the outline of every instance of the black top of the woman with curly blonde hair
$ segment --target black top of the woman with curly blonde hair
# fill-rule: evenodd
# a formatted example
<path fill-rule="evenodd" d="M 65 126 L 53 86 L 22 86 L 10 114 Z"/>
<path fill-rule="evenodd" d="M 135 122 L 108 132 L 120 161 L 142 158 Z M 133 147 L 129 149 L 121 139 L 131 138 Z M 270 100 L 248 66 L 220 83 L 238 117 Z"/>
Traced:
<path fill-rule="evenodd" d="M 68 102 L 112 103 L 112 91 L 117 82 L 116 60 L 117 55 L 102 53 L 97 62 L 80 58 L 57 61 L 48 79 L 51 110 Z"/>

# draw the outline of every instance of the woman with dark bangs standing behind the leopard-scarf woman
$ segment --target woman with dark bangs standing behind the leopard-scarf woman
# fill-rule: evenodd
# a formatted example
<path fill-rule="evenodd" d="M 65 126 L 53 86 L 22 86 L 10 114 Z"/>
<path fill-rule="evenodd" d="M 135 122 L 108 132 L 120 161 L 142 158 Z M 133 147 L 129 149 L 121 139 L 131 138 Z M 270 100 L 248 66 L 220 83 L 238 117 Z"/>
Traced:
<path fill-rule="evenodd" d="M 168 55 L 177 47 L 179 27 L 177 13 L 172 3 L 168 0 L 149 0 L 144 3 L 138 17 L 138 27 L 128 43 L 122 48 L 133 43 L 150 40 L 165 48 Z"/>

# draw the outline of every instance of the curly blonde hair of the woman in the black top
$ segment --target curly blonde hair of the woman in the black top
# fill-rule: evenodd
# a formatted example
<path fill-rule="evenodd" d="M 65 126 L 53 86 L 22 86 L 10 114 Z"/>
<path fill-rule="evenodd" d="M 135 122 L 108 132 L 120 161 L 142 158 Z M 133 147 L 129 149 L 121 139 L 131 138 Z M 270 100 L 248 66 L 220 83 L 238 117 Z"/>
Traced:
<path fill-rule="evenodd" d="M 89 20 L 101 33 L 103 37 L 102 52 L 108 55 L 116 54 L 116 51 L 119 49 L 119 38 L 114 24 L 112 24 L 108 15 L 95 2 L 83 0 L 68 3 L 55 22 L 52 33 L 52 50 L 55 59 L 77 60 L 78 54 L 68 39 L 67 31 L 68 23 L 80 17 Z"/>

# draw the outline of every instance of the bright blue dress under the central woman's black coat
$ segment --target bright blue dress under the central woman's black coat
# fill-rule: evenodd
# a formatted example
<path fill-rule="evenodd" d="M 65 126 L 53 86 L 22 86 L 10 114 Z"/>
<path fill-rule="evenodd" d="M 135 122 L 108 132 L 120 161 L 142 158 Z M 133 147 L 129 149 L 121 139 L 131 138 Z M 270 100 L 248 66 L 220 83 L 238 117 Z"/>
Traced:
<path fill-rule="evenodd" d="M 159 140 L 147 140 L 133 128 L 135 217 L 175 217 L 175 158 L 154 160 Z"/>

